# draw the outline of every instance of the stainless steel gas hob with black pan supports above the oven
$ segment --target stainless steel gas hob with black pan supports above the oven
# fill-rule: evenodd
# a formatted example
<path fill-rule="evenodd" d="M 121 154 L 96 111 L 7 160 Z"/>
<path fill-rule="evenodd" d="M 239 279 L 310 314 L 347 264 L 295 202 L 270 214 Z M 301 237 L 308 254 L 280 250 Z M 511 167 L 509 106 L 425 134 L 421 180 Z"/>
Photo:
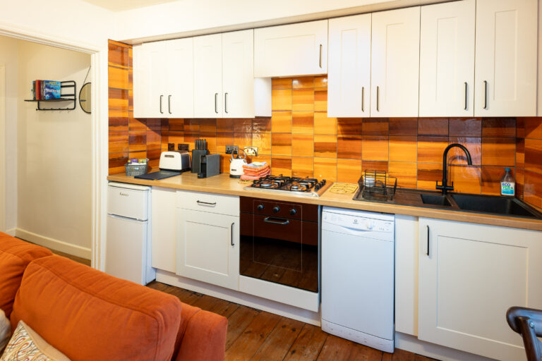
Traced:
<path fill-rule="evenodd" d="M 331 184 L 328 184 L 325 179 L 319 182 L 315 178 L 265 176 L 257 181 L 253 181 L 251 185 L 248 185 L 244 189 L 281 192 L 305 197 L 320 197 Z"/>

